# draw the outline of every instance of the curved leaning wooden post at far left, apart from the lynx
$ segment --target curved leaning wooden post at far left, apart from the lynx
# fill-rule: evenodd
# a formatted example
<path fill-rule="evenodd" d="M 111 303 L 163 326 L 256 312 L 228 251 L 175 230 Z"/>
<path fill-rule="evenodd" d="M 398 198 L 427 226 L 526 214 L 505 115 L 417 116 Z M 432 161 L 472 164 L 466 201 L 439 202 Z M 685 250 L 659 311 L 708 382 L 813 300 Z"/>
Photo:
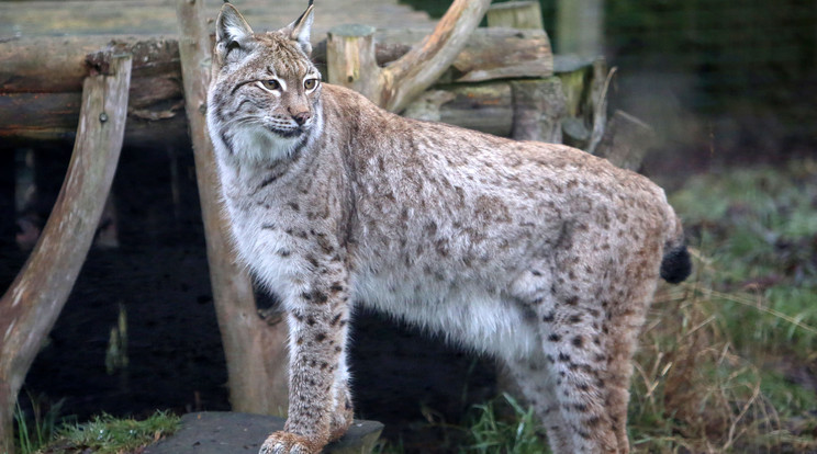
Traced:
<path fill-rule="evenodd" d="M 0 299 L 0 447 L 12 453 L 18 391 L 79 274 L 119 161 L 131 57 L 86 79 L 77 140 L 63 188 L 34 251 Z"/>

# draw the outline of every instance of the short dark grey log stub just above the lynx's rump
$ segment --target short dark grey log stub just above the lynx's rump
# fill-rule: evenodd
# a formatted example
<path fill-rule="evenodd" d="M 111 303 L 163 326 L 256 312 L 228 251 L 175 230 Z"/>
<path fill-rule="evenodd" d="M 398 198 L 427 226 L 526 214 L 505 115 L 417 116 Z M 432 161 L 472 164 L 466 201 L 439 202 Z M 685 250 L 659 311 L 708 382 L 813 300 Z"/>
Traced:
<path fill-rule="evenodd" d="M 622 111 L 613 113 L 596 155 L 614 164 L 637 171 L 647 151 L 656 144 L 656 132 L 648 124 Z"/>

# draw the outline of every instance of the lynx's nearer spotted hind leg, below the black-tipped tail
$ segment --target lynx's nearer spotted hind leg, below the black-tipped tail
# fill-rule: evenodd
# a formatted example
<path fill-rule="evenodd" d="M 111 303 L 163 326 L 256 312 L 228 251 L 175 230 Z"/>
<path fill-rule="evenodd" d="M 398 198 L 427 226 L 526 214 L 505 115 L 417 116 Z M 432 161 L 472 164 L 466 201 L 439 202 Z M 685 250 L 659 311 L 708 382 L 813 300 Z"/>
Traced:
<path fill-rule="evenodd" d="M 556 453 L 628 453 L 631 360 L 656 287 L 660 247 L 648 240 L 613 258 L 581 256 L 594 249 L 580 241 L 573 238 L 572 250 L 557 259 L 553 285 L 536 306 L 551 407 L 559 411 L 550 421 L 562 424 L 546 429 L 557 434 Z"/>

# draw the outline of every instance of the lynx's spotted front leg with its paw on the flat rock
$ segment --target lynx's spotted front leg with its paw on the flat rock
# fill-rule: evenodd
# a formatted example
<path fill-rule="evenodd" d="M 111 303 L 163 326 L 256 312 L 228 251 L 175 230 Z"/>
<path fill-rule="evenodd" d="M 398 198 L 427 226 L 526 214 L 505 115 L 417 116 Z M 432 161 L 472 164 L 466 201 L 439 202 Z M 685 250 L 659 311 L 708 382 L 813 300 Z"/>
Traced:
<path fill-rule="evenodd" d="M 318 453 L 351 423 L 345 360 L 348 306 L 340 281 L 313 285 L 290 305 L 289 417 L 260 454 Z"/>

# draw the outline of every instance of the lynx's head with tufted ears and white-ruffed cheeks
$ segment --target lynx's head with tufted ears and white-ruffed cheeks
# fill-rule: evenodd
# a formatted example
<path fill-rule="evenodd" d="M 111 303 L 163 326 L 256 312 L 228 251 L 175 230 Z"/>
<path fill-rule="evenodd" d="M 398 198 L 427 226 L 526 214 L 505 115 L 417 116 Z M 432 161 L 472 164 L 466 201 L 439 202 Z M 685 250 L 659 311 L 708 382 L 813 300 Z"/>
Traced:
<path fill-rule="evenodd" d="M 222 157 L 269 162 L 320 134 L 321 73 L 310 60 L 313 7 L 288 26 L 253 33 L 230 3 L 215 26 L 208 126 Z"/>

